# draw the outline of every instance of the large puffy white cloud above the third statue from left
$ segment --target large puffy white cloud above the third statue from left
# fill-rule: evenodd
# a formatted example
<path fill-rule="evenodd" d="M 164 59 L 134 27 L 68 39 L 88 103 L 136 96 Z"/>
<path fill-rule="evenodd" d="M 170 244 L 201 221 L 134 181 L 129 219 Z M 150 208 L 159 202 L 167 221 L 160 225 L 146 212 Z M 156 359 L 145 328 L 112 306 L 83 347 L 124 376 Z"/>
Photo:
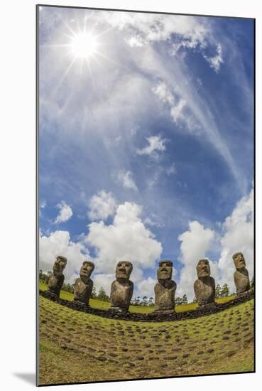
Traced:
<path fill-rule="evenodd" d="M 102 221 L 89 224 L 86 242 L 96 250 L 97 272 L 111 273 L 117 262 L 128 260 L 133 263 L 131 279 L 138 282 L 143 278 L 142 269 L 155 267 L 162 245 L 144 225 L 141 213 L 141 206 L 126 202 L 117 208 L 111 225 Z"/>

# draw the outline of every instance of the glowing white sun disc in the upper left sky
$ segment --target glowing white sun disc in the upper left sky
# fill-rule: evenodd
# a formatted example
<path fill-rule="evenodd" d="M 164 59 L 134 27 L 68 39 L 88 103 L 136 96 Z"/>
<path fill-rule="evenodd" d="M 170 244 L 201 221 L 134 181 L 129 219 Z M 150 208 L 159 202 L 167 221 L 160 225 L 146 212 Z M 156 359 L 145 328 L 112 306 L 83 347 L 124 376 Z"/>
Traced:
<path fill-rule="evenodd" d="M 72 37 L 70 48 L 75 58 L 90 58 L 97 53 L 97 37 L 91 33 L 78 33 Z"/>

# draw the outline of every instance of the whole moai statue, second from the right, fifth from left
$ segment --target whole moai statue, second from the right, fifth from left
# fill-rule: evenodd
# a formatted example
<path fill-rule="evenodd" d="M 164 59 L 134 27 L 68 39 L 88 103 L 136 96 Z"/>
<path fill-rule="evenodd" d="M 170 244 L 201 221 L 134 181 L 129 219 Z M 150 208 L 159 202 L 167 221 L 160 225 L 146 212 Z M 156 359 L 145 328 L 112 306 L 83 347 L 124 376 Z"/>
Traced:
<path fill-rule="evenodd" d="M 214 304 L 216 286 L 213 277 L 210 277 L 210 266 L 207 259 L 200 259 L 197 263 L 197 277 L 194 282 L 194 291 L 200 306 Z"/>

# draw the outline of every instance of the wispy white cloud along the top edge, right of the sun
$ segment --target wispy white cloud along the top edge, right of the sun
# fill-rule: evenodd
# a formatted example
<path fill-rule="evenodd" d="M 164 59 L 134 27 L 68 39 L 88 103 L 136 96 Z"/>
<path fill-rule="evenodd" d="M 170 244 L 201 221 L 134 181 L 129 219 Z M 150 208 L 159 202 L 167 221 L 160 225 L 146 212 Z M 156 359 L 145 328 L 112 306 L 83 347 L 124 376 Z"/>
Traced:
<path fill-rule="evenodd" d="M 170 48 L 171 55 L 178 55 L 181 50 L 198 50 L 207 60 L 215 72 L 219 71 L 222 58 L 222 45 L 216 43 L 212 33 L 212 25 L 206 20 L 193 16 L 168 16 L 156 14 L 107 14 L 101 15 L 100 21 L 107 19 L 107 23 L 120 31 L 124 31 L 128 38 L 126 43 L 131 48 L 141 48 L 155 42 L 170 41 L 175 36 L 176 43 Z M 209 57 L 208 48 L 217 48 L 217 55 Z M 181 54 L 180 54 L 181 56 Z"/>

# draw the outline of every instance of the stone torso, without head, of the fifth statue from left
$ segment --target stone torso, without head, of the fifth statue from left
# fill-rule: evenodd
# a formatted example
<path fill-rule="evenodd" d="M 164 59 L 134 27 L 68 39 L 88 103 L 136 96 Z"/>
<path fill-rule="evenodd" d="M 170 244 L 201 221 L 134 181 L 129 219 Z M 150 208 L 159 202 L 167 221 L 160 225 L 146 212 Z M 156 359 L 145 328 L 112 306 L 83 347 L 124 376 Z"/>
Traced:
<path fill-rule="evenodd" d="M 200 306 L 214 303 L 215 290 L 213 277 L 200 277 L 194 283 L 195 297 Z"/>

